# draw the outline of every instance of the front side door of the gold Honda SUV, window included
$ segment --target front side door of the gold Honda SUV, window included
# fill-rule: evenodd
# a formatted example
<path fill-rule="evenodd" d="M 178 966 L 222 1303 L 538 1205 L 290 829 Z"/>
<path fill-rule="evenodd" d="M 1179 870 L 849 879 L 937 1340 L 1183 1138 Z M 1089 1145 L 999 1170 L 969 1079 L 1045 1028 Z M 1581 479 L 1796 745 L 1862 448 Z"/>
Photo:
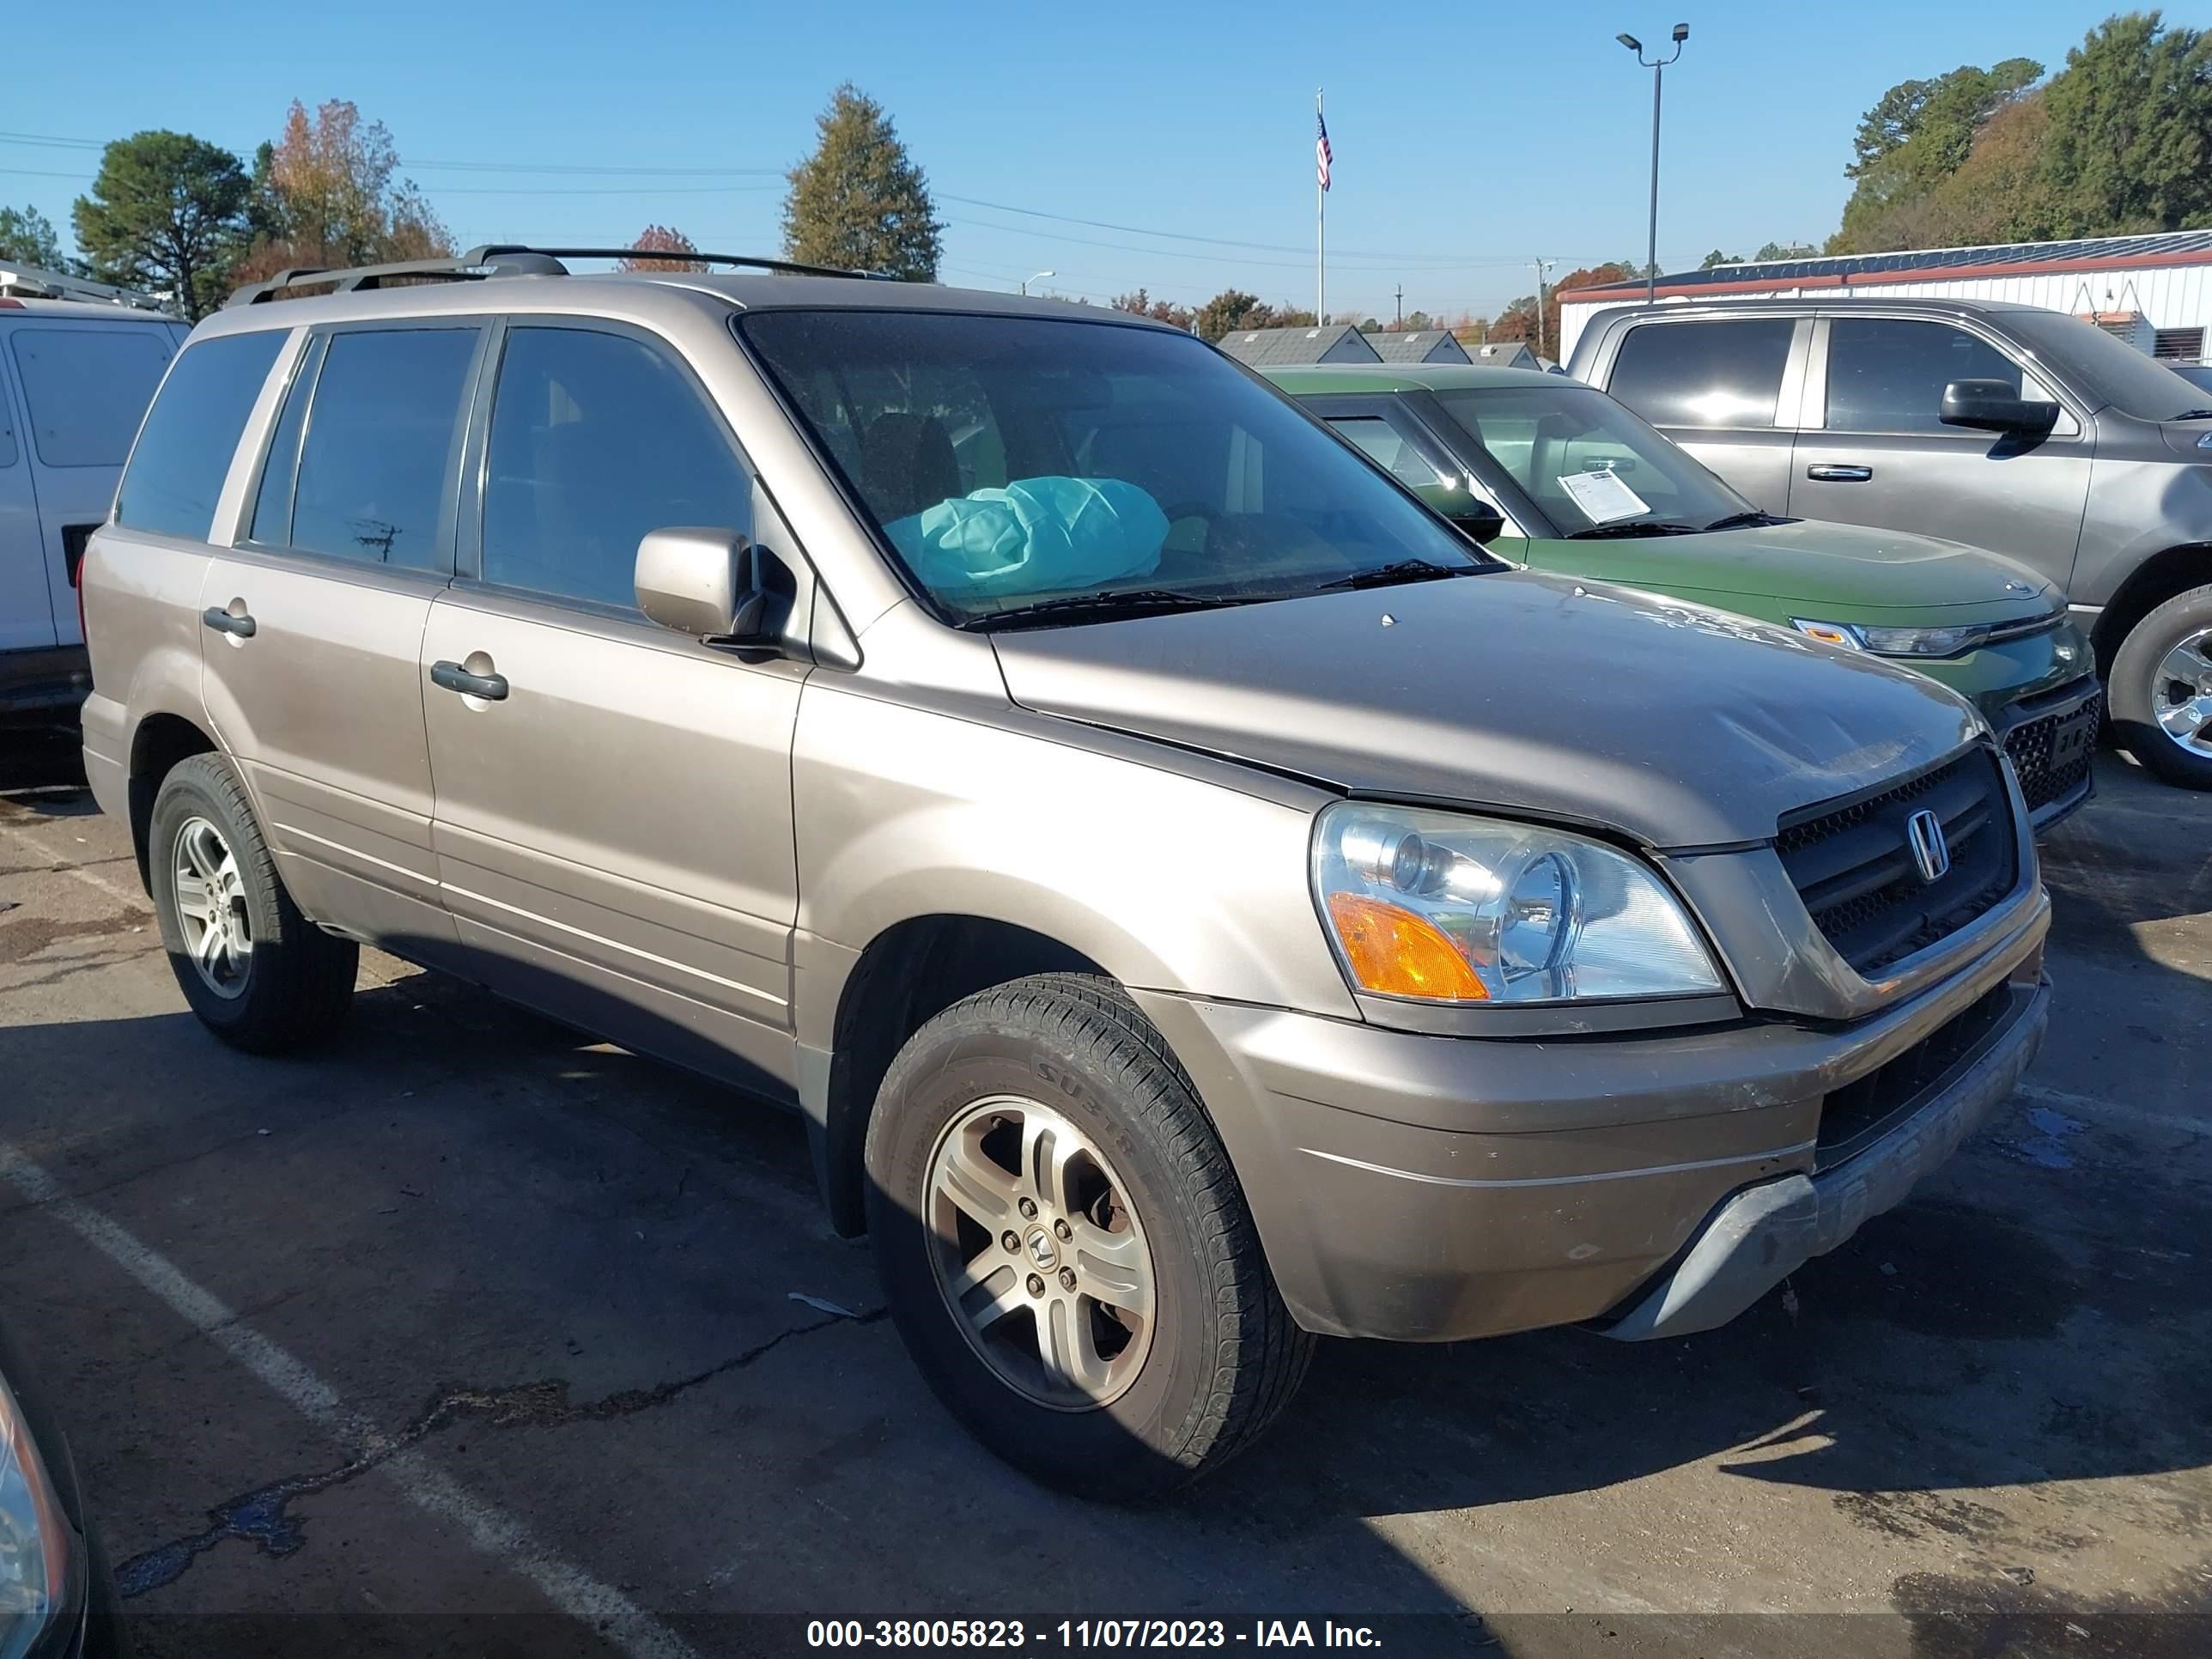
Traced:
<path fill-rule="evenodd" d="M 646 531 L 754 533 L 752 476 L 657 338 L 509 323 L 495 349 L 462 577 L 420 653 L 445 902 L 509 995 L 776 1088 L 805 666 L 659 628 L 633 586 Z"/>

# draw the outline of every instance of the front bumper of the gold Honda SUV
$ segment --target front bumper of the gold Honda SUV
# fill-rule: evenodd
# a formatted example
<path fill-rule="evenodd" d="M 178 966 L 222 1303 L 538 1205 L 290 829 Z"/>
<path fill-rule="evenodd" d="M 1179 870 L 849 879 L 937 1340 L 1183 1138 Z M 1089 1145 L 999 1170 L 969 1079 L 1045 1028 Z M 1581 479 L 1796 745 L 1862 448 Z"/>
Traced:
<path fill-rule="evenodd" d="M 1659 1336 L 1721 1323 L 1832 1250 L 2011 1095 L 2048 1011 L 2048 927 L 2037 894 L 1982 958 L 1840 1029 L 1478 1040 L 1135 995 L 1199 1086 L 1307 1329 L 1433 1343 L 1630 1325 L 1661 1296 L 1644 1332 Z M 2006 984 L 2028 995 L 1997 1037 L 1816 1175 L 1827 1097 L 1922 1053 Z M 1732 1210 L 1767 1188 L 1765 1208 Z M 1807 1190 L 1809 1219 L 1783 1219 Z M 1739 1234 L 1747 1254 L 1723 1248 Z"/>

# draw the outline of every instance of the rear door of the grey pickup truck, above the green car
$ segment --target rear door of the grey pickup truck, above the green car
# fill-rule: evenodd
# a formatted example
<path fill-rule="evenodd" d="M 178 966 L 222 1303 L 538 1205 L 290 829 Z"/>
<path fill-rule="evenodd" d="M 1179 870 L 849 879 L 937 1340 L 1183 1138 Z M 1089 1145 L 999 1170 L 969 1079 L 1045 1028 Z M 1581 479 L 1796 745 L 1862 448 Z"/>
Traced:
<path fill-rule="evenodd" d="M 1809 341 L 1809 316 L 1637 321 L 1597 365 L 1599 385 L 1741 495 L 1787 513 Z"/>

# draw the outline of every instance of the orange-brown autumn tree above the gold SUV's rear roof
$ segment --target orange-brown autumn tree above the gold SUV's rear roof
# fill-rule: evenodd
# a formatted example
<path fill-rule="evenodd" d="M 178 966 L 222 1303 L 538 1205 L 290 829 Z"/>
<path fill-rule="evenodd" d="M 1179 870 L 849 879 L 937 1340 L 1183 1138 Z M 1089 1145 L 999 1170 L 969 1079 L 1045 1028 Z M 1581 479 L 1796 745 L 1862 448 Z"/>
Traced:
<path fill-rule="evenodd" d="M 274 144 L 254 153 L 246 215 L 252 250 L 239 281 L 288 265 L 343 270 L 403 259 L 449 259 L 453 237 L 422 190 L 398 175 L 383 122 L 334 97 L 312 113 L 299 100 Z"/>

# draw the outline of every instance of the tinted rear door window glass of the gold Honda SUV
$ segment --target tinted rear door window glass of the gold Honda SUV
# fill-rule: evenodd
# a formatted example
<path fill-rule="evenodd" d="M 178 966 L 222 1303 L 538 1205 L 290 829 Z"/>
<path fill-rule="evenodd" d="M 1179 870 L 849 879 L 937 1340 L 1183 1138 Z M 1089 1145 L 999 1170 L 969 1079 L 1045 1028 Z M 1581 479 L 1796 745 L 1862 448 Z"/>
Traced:
<path fill-rule="evenodd" d="M 476 336 L 476 327 L 330 336 L 299 449 L 292 546 L 414 571 L 447 566 L 445 509 L 460 476 L 460 400 Z"/>

